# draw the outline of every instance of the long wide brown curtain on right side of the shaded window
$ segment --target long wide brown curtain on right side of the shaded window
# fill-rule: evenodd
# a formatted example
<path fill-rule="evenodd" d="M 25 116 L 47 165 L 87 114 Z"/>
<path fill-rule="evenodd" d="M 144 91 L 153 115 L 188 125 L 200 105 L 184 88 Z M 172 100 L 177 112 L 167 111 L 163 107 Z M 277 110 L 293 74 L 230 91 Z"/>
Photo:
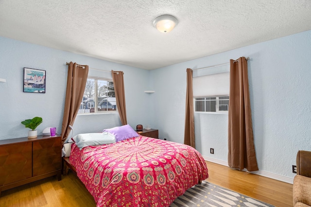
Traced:
<path fill-rule="evenodd" d="M 228 165 L 248 171 L 258 170 L 248 90 L 245 57 L 230 60 L 230 94 L 228 119 Z"/>

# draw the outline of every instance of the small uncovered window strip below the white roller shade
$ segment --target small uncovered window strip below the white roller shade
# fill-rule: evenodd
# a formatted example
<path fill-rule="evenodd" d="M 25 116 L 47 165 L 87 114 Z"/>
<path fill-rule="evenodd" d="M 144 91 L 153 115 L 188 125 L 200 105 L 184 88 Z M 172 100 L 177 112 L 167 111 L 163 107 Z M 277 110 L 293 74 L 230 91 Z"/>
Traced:
<path fill-rule="evenodd" d="M 229 96 L 194 98 L 194 111 L 228 111 Z"/>

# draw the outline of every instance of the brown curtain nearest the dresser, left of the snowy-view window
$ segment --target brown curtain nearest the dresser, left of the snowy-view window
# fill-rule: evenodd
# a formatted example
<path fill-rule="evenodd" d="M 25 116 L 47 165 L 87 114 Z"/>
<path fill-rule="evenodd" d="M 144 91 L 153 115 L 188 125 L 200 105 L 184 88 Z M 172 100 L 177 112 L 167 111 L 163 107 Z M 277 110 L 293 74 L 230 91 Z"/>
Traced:
<path fill-rule="evenodd" d="M 69 133 L 69 125 L 73 125 L 78 114 L 88 74 L 88 65 L 78 65 L 70 62 L 68 65 L 67 89 L 65 108 L 62 124 L 62 142 L 64 142 Z"/>

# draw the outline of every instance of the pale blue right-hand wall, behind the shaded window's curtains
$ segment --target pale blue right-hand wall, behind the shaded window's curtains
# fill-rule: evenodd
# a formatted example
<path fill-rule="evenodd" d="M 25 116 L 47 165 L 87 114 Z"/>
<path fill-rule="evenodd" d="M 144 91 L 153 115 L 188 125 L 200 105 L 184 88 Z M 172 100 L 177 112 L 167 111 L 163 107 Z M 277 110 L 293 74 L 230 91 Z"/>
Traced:
<path fill-rule="evenodd" d="M 258 173 L 292 180 L 297 151 L 311 150 L 311 31 L 152 70 L 154 126 L 160 137 L 183 143 L 186 68 L 228 63 L 242 56 L 250 57 Z M 196 148 L 205 158 L 227 162 L 227 122 L 224 114 L 195 114 Z"/>

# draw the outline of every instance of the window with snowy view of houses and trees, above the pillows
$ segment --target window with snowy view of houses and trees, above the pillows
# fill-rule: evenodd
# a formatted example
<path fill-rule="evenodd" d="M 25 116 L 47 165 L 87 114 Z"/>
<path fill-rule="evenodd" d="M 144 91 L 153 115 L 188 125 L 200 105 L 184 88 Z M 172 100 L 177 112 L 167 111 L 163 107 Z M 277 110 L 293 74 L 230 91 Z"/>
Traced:
<path fill-rule="evenodd" d="M 95 104 L 96 103 L 96 104 Z M 79 114 L 117 111 L 116 96 L 111 79 L 88 77 Z"/>

